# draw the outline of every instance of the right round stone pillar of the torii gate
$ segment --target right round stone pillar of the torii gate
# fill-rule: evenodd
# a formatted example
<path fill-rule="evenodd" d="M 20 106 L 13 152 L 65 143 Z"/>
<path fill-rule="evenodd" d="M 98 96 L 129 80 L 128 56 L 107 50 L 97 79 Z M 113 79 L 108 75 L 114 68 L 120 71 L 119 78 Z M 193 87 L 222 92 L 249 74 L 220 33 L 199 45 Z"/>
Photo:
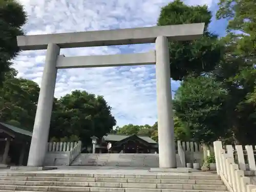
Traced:
<path fill-rule="evenodd" d="M 159 167 L 177 168 L 170 86 L 169 44 L 165 36 L 156 38 L 156 87 Z"/>

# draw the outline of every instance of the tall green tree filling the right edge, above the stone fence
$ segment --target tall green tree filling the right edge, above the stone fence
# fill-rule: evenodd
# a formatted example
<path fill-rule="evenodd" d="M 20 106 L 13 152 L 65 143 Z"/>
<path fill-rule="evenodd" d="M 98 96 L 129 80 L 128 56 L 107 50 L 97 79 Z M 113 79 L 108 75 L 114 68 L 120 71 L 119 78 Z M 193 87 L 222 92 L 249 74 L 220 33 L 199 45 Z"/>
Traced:
<path fill-rule="evenodd" d="M 224 62 L 215 71 L 228 90 L 228 117 L 234 140 L 255 144 L 256 134 L 256 4 L 248 0 L 221 0 L 217 18 L 228 20 Z"/>

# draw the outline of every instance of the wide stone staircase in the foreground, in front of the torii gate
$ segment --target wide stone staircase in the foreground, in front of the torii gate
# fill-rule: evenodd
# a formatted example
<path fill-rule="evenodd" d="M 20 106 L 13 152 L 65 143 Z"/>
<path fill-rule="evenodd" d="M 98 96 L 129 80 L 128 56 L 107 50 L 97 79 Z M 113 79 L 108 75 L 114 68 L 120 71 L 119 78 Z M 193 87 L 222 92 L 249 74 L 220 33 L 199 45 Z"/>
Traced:
<path fill-rule="evenodd" d="M 201 175 L 200 175 L 201 174 Z M 217 175 L 0 173 L 0 191 L 224 192 Z"/>

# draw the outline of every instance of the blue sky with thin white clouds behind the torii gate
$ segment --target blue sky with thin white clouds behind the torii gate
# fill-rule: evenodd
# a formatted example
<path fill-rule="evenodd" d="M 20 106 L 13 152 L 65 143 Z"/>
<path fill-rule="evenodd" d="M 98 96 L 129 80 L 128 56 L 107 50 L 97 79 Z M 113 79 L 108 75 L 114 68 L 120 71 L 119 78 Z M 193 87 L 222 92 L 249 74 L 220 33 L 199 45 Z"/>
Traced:
<path fill-rule="evenodd" d="M 19 0 L 29 19 L 24 30 L 30 34 L 93 31 L 155 26 L 160 8 L 167 0 Z M 206 4 L 214 13 L 217 0 L 186 0 L 188 5 Z M 225 20 L 212 18 L 210 30 L 223 36 Z M 125 54 L 154 50 L 154 44 L 62 49 L 66 56 Z M 19 77 L 40 86 L 45 50 L 23 51 L 14 60 Z M 172 90 L 179 82 L 172 81 Z M 103 95 L 112 106 L 117 125 L 154 124 L 157 120 L 155 66 L 108 67 L 59 70 L 55 96 L 73 90 Z M 173 93 L 174 94 L 174 93 Z"/>

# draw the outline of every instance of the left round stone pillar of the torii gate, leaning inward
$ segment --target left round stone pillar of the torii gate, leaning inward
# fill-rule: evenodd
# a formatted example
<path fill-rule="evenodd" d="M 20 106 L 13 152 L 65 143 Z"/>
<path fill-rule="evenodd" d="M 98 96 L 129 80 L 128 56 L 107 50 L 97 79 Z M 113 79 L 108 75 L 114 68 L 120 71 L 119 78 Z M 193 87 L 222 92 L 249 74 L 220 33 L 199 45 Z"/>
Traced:
<path fill-rule="evenodd" d="M 57 77 L 56 62 L 59 52 L 60 48 L 56 44 L 48 44 L 30 144 L 28 166 L 44 165 Z"/>

